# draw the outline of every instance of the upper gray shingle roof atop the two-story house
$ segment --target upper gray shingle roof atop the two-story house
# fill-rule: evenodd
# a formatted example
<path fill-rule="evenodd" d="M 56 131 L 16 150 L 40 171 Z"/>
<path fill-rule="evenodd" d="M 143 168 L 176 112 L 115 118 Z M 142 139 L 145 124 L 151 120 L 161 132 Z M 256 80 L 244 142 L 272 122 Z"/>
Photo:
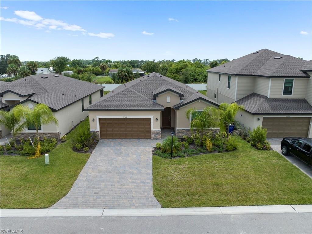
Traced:
<path fill-rule="evenodd" d="M 277 57 L 281 58 L 275 59 Z M 233 75 L 309 78 L 307 73 L 301 71 L 303 67 L 309 67 L 309 64 L 309 61 L 300 58 L 261 49 L 258 53 L 247 54 L 207 71 Z"/>

